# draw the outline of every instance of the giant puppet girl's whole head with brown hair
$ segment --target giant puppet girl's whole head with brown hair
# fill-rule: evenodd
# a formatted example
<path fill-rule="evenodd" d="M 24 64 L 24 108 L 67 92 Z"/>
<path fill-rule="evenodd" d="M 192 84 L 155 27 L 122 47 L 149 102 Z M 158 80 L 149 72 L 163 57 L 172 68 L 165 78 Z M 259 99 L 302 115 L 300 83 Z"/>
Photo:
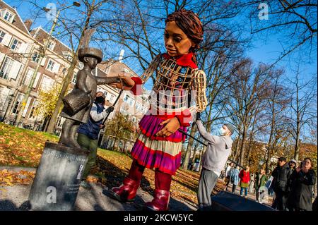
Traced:
<path fill-rule="evenodd" d="M 193 11 L 181 9 L 165 20 L 165 48 L 170 56 L 188 54 L 199 49 L 204 30 Z"/>

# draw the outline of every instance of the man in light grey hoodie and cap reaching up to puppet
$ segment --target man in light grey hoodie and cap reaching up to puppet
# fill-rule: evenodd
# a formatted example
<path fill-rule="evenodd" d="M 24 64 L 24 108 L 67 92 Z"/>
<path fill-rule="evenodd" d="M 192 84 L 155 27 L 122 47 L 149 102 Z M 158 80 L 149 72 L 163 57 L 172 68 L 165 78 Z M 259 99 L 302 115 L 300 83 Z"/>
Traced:
<path fill-rule="evenodd" d="M 219 130 L 220 136 L 211 135 L 204 128 L 199 113 L 196 118 L 196 126 L 202 138 L 208 141 L 208 147 L 202 156 L 202 171 L 198 190 L 199 210 L 205 210 L 212 204 L 211 192 L 231 154 L 233 141 L 230 136 L 234 133 L 234 127 L 230 123 L 225 123 Z"/>

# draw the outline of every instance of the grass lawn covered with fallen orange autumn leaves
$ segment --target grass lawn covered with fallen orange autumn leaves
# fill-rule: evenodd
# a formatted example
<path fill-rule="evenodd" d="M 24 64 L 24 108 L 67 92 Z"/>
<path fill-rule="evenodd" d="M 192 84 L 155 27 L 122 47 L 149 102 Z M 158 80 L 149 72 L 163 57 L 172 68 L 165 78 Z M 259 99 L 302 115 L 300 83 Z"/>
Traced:
<path fill-rule="evenodd" d="M 36 167 L 40 162 L 45 141 L 57 142 L 59 138 L 54 135 L 33 130 L 25 130 L 0 123 L 0 166 L 30 166 Z M 91 182 L 100 182 L 111 188 L 119 186 L 128 174 L 132 159 L 129 154 L 98 149 L 96 166 L 92 169 Z M 30 184 L 34 178 L 33 172 L 23 171 L 14 173 L 0 171 L 0 186 L 11 186 L 15 183 Z M 153 193 L 155 188 L 155 173 L 145 169 L 141 188 Z M 172 176 L 171 195 L 180 200 L 185 200 L 194 205 L 196 188 L 199 183 L 199 173 L 179 169 Z"/>

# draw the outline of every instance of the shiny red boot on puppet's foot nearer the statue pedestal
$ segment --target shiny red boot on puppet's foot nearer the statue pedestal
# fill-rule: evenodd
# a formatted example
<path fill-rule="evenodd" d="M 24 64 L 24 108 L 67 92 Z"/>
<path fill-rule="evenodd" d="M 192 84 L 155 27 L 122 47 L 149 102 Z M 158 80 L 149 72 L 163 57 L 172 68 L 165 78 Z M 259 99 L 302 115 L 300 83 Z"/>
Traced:
<path fill-rule="evenodd" d="M 121 186 L 112 188 L 112 197 L 120 202 L 132 202 L 135 200 L 139 184 L 139 182 L 126 177 Z"/>

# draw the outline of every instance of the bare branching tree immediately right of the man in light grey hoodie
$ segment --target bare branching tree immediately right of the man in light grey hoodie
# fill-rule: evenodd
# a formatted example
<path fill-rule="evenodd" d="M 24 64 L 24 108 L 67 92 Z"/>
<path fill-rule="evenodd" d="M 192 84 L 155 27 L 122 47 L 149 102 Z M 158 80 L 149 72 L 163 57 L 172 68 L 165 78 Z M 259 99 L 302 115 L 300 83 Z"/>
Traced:
<path fill-rule="evenodd" d="M 270 74 L 267 73 L 268 68 L 265 65 L 253 68 L 250 59 L 242 59 L 237 68 L 228 88 L 229 100 L 225 104 L 225 113 L 231 118 L 239 133 L 236 157 L 242 164 L 248 131 L 268 95 L 266 88 L 269 85 Z"/>

